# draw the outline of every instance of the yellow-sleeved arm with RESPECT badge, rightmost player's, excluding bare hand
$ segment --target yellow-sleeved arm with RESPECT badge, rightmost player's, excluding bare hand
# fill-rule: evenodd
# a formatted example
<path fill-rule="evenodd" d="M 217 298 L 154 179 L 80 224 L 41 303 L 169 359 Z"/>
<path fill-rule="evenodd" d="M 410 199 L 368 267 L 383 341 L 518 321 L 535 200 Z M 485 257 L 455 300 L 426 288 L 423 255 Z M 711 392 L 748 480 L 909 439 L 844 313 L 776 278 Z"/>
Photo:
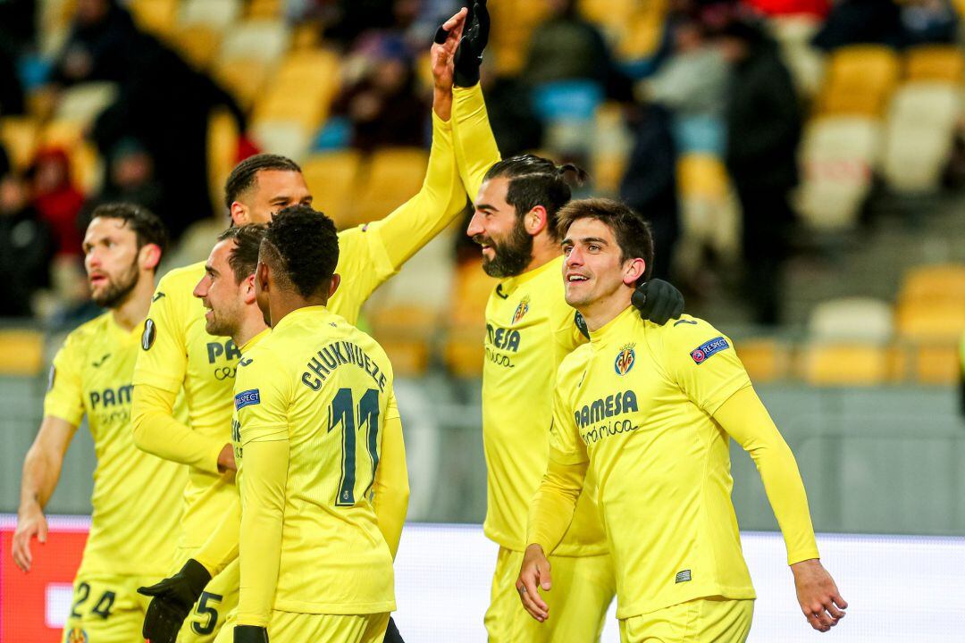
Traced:
<path fill-rule="evenodd" d="M 785 536 L 788 564 L 817 558 L 797 463 L 751 386 L 731 339 L 702 320 L 665 328 L 664 363 L 671 377 L 754 459 Z M 692 353 L 707 346 L 711 348 L 703 351 L 705 357 L 695 361 Z"/>

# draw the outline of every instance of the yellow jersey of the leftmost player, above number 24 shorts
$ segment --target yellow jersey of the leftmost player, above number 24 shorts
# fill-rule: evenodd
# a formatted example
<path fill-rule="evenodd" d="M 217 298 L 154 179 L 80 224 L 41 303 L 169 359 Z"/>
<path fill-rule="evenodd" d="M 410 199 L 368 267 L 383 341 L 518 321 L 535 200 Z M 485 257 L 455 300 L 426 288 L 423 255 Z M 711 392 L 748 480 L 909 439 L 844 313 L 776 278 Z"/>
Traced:
<path fill-rule="evenodd" d="M 70 333 L 54 358 L 43 414 L 75 426 L 87 415 L 97 458 L 78 575 L 164 576 L 174 556 L 186 470 L 138 449 L 130 432 L 143 327 L 126 332 L 105 312 Z"/>

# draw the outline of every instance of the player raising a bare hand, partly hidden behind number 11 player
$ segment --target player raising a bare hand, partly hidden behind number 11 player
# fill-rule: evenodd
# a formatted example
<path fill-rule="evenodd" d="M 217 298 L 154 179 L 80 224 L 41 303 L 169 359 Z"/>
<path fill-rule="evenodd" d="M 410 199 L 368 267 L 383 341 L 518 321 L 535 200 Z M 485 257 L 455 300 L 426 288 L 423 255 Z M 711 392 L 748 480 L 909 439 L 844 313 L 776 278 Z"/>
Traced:
<path fill-rule="evenodd" d="M 448 23 L 453 50 L 464 15 L 459 13 Z M 446 228 L 465 203 L 449 122 L 451 67 L 451 54 L 433 57 L 432 148 L 420 192 L 385 219 L 339 235 L 342 253 L 338 273 L 343 281 L 330 308 L 349 323 L 357 320 L 372 291 Z M 226 205 L 234 225 L 266 223 L 283 207 L 312 201 L 298 166 L 275 155 L 242 161 L 226 186 Z M 191 294 L 204 273 L 204 264 L 198 263 L 174 270 L 160 281 L 149 312 L 156 339 L 142 352 L 134 375 L 132 414 L 138 446 L 190 466 L 177 554 L 180 562 L 192 557 L 206 541 L 211 526 L 221 522 L 238 502 L 230 488 L 229 469 L 234 469 L 231 398 L 239 351 L 230 338 L 205 331 L 206 310 Z M 173 400 L 181 388 L 189 407 L 187 423 L 171 415 Z M 236 587 L 234 566 L 208 583 L 197 614 L 185 624 L 180 640 L 213 640 L 236 602 Z"/>

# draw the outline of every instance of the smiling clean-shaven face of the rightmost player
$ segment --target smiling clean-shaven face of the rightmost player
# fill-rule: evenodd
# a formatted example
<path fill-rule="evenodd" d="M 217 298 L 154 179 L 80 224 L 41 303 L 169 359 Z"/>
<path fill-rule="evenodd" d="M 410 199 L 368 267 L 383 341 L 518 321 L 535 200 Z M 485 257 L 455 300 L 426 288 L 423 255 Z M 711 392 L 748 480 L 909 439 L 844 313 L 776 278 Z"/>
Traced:
<path fill-rule="evenodd" d="M 586 308 L 626 285 L 626 263 L 613 230 L 598 219 L 577 219 L 563 240 L 566 303 Z M 631 281 L 632 282 L 632 281 Z"/>

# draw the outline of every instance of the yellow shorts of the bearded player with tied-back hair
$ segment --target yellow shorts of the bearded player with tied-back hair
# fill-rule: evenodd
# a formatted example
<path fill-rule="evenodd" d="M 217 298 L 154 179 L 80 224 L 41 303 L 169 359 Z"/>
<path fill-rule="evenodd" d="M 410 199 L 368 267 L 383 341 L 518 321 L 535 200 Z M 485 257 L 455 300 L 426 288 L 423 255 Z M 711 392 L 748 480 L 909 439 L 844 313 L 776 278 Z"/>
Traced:
<path fill-rule="evenodd" d="M 610 554 L 550 556 L 553 589 L 542 592 L 549 618 L 539 623 L 519 601 L 516 578 L 523 552 L 499 549 L 485 629 L 489 643 L 590 643 L 598 641 L 616 592 Z"/>

